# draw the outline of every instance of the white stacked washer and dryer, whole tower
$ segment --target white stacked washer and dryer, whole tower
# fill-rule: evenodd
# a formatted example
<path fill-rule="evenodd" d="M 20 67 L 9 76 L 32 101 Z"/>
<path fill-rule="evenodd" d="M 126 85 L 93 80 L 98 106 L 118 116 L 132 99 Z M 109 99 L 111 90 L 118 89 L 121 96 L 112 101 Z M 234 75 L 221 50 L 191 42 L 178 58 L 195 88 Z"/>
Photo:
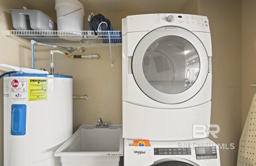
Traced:
<path fill-rule="evenodd" d="M 220 166 L 218 146 L 192 130 L 210 124 L 207 17 L 127 16 L 122 33 L 124 166 Z M 134 139 L 150 146 L 133 146 Z"/>

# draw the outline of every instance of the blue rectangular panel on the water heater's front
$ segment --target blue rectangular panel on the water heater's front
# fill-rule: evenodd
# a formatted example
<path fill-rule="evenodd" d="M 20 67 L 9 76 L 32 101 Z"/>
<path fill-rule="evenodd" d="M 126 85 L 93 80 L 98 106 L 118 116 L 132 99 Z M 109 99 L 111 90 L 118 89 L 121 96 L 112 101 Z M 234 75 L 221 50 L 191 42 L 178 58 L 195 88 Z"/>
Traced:
<path fill-rule="evenodd" d="M 25 104 L 12 105 L 12 122 L 11 122 L 12 135 L 26 134 L 26 116 L 27 116 L 26 113 L 27 113 L 27 106 Z"/>

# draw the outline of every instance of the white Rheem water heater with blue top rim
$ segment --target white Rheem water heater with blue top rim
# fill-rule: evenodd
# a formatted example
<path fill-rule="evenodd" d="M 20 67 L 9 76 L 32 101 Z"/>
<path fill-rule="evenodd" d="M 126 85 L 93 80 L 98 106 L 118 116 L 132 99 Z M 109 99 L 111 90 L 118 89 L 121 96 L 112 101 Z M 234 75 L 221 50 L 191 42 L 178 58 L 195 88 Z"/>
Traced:
<path fill-rule="evenodd" d="M 72 135 L 72 77 L 4 77 L 4 166 L 61 166 L 54 152 Z"/>

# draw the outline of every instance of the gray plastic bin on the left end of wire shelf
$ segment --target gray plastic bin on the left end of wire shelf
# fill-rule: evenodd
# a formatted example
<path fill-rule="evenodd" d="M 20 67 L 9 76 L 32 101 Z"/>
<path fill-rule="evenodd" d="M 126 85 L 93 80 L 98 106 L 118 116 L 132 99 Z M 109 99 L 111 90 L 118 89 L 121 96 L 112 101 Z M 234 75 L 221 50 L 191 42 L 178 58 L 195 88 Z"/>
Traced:
<path fill-rule="evenodd" d="M 16 30 L 57 30 L 57 24 L 39 10 L 11 9 L 12 25 Z"/>

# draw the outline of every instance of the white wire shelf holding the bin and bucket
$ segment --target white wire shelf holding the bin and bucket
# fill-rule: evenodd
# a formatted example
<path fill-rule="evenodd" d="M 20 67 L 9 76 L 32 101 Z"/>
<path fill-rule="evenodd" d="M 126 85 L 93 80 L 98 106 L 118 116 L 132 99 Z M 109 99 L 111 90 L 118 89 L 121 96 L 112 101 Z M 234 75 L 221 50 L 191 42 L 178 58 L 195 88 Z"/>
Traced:
<path fill-rule="evenodd" d="M 5 36 L 19 36 L 40 43 L 122 43 L 120 31 L 4 30 Z"/>

